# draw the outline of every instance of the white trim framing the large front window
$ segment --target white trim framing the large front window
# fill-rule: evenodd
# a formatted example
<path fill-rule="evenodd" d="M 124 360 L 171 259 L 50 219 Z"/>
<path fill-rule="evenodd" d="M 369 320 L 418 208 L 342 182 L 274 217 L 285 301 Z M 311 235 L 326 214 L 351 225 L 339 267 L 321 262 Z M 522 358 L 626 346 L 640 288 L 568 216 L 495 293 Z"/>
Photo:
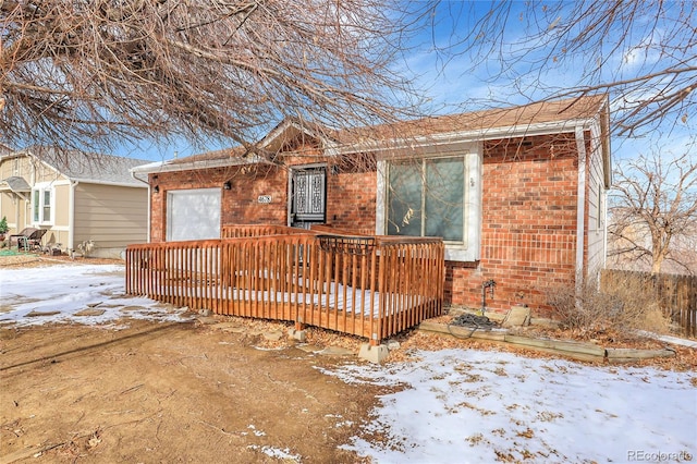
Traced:
<path fill-rule="evenodd" d="M 445 260 L 478 261 L 481 256 L 481 197 L 482 197 L 482 155 L 481 146 L 477 143 L 468 144 L 467 149 L 457 151 L 443 150 L 439 154 L 424 155 L 425 158 L 465 157 L 465 230 L 464 243 L 452 244 L 445 242 Z M 387 202 L 388 202 L 388 163 L 389 160 L 378 161 L 378 185 L 376 207 L 376 233 L 387 233 Z"/>

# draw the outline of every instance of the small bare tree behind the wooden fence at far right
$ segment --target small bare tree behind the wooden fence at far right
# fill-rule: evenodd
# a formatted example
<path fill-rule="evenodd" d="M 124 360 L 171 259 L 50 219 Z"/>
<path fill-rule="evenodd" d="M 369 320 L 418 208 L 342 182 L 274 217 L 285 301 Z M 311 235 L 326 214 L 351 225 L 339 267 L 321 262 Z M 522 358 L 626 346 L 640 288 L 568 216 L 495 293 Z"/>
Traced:
<path fill-rule="evenodd" d="M 651 273 L 667 261 L 696 272 L 697 249 L 690 246 L 697 239 L 697 160 L 653 152 L 617 167 L 614 176 L 609 256 L 648 261 Z"/>

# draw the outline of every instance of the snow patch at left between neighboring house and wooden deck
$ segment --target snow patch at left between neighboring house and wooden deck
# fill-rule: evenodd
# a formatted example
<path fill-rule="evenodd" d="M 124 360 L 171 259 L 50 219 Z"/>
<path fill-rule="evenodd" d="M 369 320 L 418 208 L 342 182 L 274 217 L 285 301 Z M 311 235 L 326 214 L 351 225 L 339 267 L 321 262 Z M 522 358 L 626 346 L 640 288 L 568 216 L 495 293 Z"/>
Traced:
<path fill-rule="evenodd" d="M 124 266 L 60 265 L 0 269 L 0 325 L 182 320 L 183 309 L 124 294 Z"/>

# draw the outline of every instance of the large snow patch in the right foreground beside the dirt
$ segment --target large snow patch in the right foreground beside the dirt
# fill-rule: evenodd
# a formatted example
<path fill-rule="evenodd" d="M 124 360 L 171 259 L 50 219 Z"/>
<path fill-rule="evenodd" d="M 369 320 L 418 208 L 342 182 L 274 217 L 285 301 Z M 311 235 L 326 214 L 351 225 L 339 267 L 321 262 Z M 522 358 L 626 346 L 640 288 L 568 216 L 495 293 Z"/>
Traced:
<path fill-rule="evenodd" d="M 475 350 L 346 365 L 346 382 L 402 386 L 345 448 L 377 463 L 685 462 L 696 373 L 592 367 Z"/>

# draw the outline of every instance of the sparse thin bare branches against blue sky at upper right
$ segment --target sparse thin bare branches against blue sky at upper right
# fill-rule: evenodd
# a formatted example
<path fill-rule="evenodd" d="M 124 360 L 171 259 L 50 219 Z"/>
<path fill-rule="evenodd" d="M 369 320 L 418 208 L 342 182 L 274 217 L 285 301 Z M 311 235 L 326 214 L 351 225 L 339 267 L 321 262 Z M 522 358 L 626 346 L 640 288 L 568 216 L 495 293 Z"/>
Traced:
<path fill-rule="evenodd" d="M 617 135 L 684 124 L 697 102 L 697 3 L 664 0 L 438 2 L 443 69 L 487 74 L 496 89 L 531 98 L 608 93 Z"/>

